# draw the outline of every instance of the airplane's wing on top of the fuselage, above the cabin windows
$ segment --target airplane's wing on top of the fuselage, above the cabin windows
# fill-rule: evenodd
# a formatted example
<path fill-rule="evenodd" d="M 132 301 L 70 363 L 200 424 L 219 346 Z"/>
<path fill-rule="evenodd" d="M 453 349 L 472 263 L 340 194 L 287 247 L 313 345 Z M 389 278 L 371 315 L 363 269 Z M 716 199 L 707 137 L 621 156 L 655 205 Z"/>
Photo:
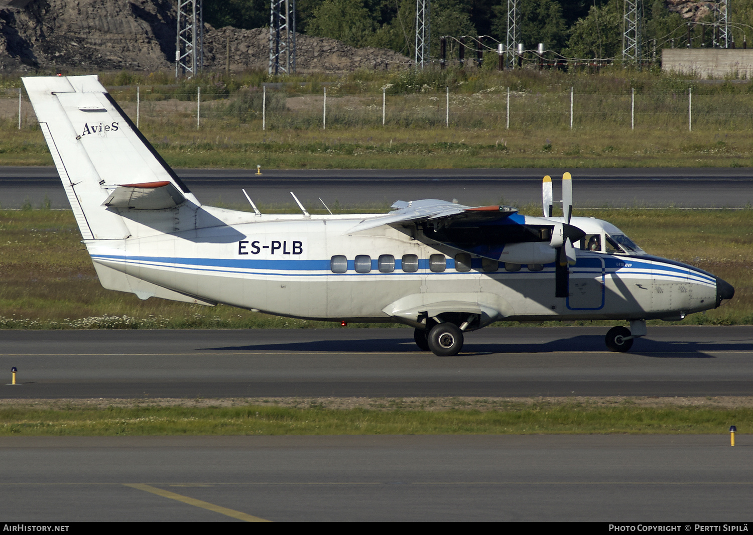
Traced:
<path fill-rule="evenodd" d="M 449 226 L 453 223 L 486 223 L 502 220 L 517 213 L 511 206 L 465 206 L 439 199 L 422 199 L 420 201 L 398 201 L 392 205 L 397 208 L 389 214 L 361 220 L 347 233 L 357 233 L 382 225 L 401 223 L 423 223 L 433 221 L 434 226 Z"/>

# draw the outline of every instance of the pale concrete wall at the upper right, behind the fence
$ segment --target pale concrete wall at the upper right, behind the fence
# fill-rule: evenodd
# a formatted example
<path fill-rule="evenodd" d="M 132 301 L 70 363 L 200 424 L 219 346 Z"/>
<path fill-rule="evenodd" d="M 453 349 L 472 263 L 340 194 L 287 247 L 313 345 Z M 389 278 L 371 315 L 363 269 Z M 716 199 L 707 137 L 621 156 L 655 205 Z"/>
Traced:
<path fill-rule="evenodd" d="M 753 78 L 753 49 L 665 48 L 661 70 L 694 72 L 699 78 Z"/>

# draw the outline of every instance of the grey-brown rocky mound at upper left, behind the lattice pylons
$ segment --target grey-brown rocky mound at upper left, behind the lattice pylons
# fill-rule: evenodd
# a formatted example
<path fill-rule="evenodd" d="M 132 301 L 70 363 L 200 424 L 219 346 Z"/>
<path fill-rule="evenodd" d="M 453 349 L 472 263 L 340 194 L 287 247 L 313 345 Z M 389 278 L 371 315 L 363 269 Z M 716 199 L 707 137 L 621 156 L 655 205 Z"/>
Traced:
<path fill-rule="evenodd" d="M 175 58 L 174 0 L 0 0 L 0 72 L 156 71 Z M 23 5 L 23 7 L 15 7 Z M 205 25 L 204 65 L 267 68 L 268 29 Z M 354 48 L 327 38 L 297 36 L 297 70 L 345 72 L 399 68 L 410 61 L 392 50 Z"/>

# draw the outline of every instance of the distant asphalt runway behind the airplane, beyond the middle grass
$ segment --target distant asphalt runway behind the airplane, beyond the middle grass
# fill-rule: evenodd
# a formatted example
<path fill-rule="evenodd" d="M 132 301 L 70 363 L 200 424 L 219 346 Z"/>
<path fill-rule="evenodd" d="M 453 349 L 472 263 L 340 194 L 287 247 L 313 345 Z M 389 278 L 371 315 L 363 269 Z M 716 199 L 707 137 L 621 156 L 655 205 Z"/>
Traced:
<path fill-rule="evenodd" d="M 457 199 L 466 205 L 541 203 L 541 177 L 568 169 L 276 170 L 176 169 L 207 205 L 247 205 L 242 188 L 260 205 L 292 205 L 290 192 L 309 208 L 392 204 L 395 200 Z M 753 169 L 569 169 L 575 208 L 742 208 L 753 204 Z M 559 188 L 555 180 L 555 192 Z M 0 167 L 0 206 L 25 202 L 70 208 L 52 167 Z M 558 193 L 555 193 L 555 197 Z M 577 212 L 576 212 L 577 214 Z"/>

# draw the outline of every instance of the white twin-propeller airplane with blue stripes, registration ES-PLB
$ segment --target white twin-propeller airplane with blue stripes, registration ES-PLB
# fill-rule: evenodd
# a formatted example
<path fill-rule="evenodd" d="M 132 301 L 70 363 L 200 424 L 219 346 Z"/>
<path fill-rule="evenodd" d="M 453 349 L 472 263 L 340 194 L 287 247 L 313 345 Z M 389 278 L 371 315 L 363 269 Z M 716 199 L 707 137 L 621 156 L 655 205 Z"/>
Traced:
<path fill-rule="evenodd" d="M 678 321 L 732 299 L 702 269 L 654 257 L 604 220 L 510 206 L 398 201 L 387 214 L 261 214 L 202 205 L 96 75 L 23 78 L 102 286 L 292 318 L 399 322 L 422 351 L 453 356 L 495 321 Z"/>

